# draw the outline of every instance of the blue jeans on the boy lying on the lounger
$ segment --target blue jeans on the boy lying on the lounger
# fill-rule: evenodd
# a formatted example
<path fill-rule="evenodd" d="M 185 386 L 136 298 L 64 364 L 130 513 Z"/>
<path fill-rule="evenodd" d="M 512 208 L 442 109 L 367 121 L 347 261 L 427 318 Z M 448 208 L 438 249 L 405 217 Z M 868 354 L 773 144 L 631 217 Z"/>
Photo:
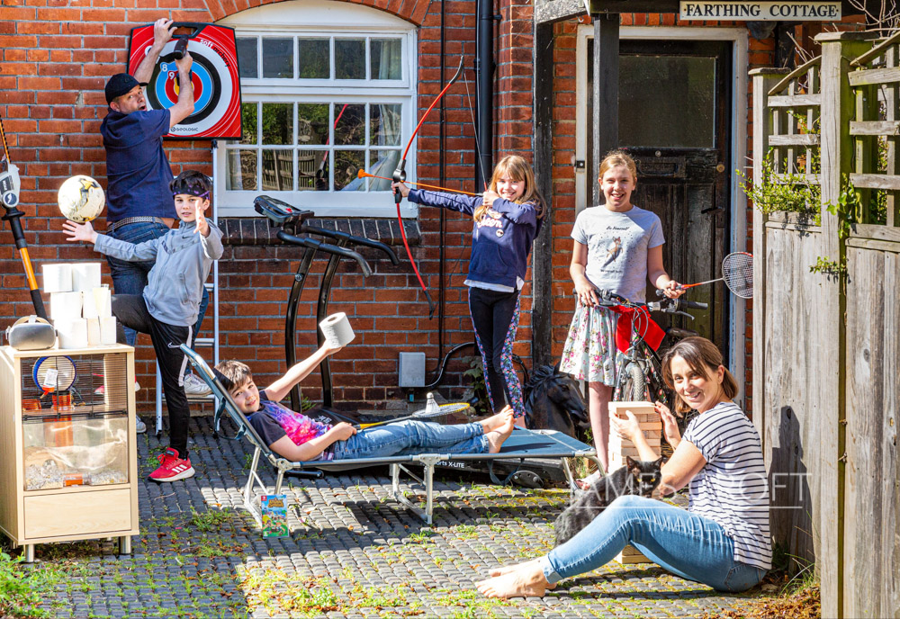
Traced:
<path fill-rule="evenodd" d="M 332 447 L 335 460 L 379 458 L 410 453 L 487 453 L 481 424 L 441 426 L 408 419 L 360 430 Z"/>

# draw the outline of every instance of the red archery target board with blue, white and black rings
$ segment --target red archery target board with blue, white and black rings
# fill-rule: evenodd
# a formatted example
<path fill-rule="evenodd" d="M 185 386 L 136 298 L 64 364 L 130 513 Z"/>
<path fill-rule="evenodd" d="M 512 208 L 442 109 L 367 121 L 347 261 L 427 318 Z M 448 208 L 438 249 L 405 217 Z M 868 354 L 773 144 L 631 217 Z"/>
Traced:
<path fill-rule="evenodd" d="M 166 136 L 168 138 L 241 138 L 240 76 L 234 29 L 211 23 L 193 24 L 187 43 L 193 58 L 193 113 Z M 150 110 L 170 108 L 178 102 L 178 67 L 175 66 L 175 36 L 159 54 L 153 76 L 147 85 Z M 128 71 L 131 75 L 153 45 L 153 24 L 131 30 L 128 46 Z"/>

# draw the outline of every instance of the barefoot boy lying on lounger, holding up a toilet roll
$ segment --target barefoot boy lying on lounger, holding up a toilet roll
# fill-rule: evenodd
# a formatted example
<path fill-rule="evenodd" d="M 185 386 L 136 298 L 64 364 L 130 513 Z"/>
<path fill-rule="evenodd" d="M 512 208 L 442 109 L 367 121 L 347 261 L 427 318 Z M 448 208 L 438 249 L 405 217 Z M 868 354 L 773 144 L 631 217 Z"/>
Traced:
<path fill-rule="evenodd" d="M 273 452 L 292 462 L 429 452 L 498 453 L 500 445 L 512 434 L 513 411 L 509 406 L 472 424 L 441 426 L 408 419 L 357 432 L 346 422 L 336 426 L 319 423 L 278 403 L 322 360 L 338 350 L 323 345 L 265 390 L 257 389 L 245 363 L 223 361 L 216 365 L 215 373 L 260 438 Z"/>

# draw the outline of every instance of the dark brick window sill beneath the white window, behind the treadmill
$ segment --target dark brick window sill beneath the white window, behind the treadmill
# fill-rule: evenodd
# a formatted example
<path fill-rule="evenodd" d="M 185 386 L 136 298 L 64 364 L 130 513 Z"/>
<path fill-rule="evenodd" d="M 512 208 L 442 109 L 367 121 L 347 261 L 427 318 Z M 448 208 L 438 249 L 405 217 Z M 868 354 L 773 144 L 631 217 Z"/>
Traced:
<path fill-rule="evenodd" d="M 396 219 L 316 217 L 306 222 L 311 226 L 347 232 L 355 237 L 369 238 L 389 246 L 403 245 L 400 222 Z M 270 227 L 268 220 L 261 217 L 223 217 L 218 225 L 224 235 L 223 245 L 287 245 L 277 237 L 279 229 Z M 410 247 L 421 244 L 419 220 L 403 220 L 403 228 Z"/>

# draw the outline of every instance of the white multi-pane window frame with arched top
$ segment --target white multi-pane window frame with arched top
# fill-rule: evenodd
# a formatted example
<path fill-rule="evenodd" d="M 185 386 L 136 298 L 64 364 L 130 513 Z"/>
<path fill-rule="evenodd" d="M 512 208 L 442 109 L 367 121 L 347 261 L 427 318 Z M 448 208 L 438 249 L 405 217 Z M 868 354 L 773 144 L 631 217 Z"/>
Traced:
<path fill-rule="evenodd" d="M 358 4 L 332 2 L 329 0 L 292 0 L 268 4 L 255 9 L 235 13 L 219 22 L 235 29 L 238 38 L 257 36 L 257 75 L 261 76 L 262 37 L 294 39 L 296 58 L 297 37 L 330 39 L 331 58 L 334 57 L 335 39 L 380 39 L 400 38 L 402 41 L 402 63 L 400 80 L 346 80 L 335 78 L 334 62 L 331 63 L 329 79 L 297 78 L 241 78 L 242 103 L 398 103 L 401 105 L 401 154 L 409 136 L 415 128 L 418 112 L 418 44 L 416 28 L 409 22 L 383 11 Z M 369 49 L 369 46 L 366 46 Z M 368 56 L 368 51 L 366 52 Z M 294 76 L 297 75 L 297 62 Z M 365 63 L 366 73 L 371 70 L 370 62 Z M 296 107 L 294 107 L 294 111 Z M 334 111 L 331 122 L 334 122 Z M 294 112 L 294 118 L 296 114 Z M 257 121 L 259 117 L 257 116 Z M 296 144 L 297 122 L 293 123 L 293 145 L 274 145 L 272 148 L 294 151 L 294 176 L 297 175 L 296 151 L 305 150 Z M 246 131 L 246 129 L 245 129 Z M 368 124 L 366 128 L 368 132 Z M 258 135 L 258 133 L 257 133 Z M 250 148 L 258 149 L 257 146 Z M 274 192 L 263 189 L 257 191 L 226 191 L 228 151 L 239 148 L 238 140 L 221 140 L 219 157 L 216 157 L 215 174 L 220 175 L 219 217 L 256 217 L 253 200 L 257 195 L 266 194 L 320 217 L 394 217 L 397 214 L 390 191 L 332 192 L 332 191 L 288 191 Z M 338 150 L 377 150 L 374 145 L 348 147 Z M 334 168 L 333 150 L 329 150 Z M 407 170 L 416 169 L 415 144 L 410 147 Z M 415 217 L 418 209 L 409 201 L 401 203 L 405 217 Z"/>

